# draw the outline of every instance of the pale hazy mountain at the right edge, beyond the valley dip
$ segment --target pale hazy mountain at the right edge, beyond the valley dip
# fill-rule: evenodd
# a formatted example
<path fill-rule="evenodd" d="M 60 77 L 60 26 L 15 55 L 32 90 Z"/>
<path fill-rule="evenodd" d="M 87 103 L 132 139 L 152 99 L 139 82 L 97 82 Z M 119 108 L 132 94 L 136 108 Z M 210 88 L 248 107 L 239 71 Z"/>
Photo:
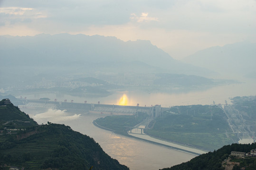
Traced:
<path fill-rule="evenodd" d="M 210 47 L 182 61 L 225 75 L 249 75 L 256 72 L 256 43 L 237 42 L 223 47 Z"/>

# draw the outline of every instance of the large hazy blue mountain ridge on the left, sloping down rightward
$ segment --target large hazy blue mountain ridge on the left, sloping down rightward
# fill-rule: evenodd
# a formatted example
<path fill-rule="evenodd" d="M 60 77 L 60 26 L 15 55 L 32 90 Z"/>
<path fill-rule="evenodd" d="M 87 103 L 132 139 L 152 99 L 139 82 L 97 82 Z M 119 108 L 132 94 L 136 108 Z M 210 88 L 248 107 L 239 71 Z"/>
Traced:
<path fill-rule="evenodd" d="M 25 69 L 76 68 L 78 71 L 101 70 L 101 63 L 132 63 L 139 61 L 142 68 L 160 69 L 179 74 L 206 76 L 216 74 L 204 68 L 184 64 L 152 45 L 150 41 L 123 42 L 115 37 L 84 34 L 38 34 L 36 36 L 0 36 L 2 67 Z M 98 64 L 99 63 L 99 64 Z M 144 65 L 145 63 L 146 65 Z M 135 69 L 140 65 L 134 65 Z M 66 69 L 65 69 L 66 68 Z M 141 68 L 142 72 L 143 69 Z M 114 70 L 115 72 L 119 70 Z M 123 71 L 123 70 L 122 70 Z M 124 70 L 129 72 L 130 70 Z"/>

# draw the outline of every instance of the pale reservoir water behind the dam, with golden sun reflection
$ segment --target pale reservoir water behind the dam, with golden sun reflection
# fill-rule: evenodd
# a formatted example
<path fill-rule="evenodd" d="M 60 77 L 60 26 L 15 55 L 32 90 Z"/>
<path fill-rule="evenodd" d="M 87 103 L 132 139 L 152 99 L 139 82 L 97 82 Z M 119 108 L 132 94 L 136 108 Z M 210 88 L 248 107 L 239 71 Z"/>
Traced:
<path fill-rule="evenodd" d="M 35 94 L 22 94 L 22 97 L 28 99 L 39 99 L 47 97 L 54 101 L 62 101 L 66 99 L 67 102 L 74 100 L 74 102 L 87 103 L 102 103 L 102 104 L 119 104 L 120 98 L 123 94 L 127 96 L 127 105 L 136 106 L 137 103 L 140 106 L 151 106 L 160 104 L 162 107 L 180 106 L 180 105 L 193 105 L 193 104 L 225 104 L 225 100 L 228 104 L 231 104 L 230 98 L 236 96 L 248 96 L 256 95 L 256 80 L 246 80 L 240 84 L 229 84 L 215 86 L 209 89 L 199 89 L 190 92 L 180 93 L 147 93 L 142 91 L 124 91 L 114 92 L 107 97 L 89 97 L 89 96 L 71 96 L 62 93 L 35 93 Z M 19 98 L 20 96 L 16 96 Z"/>

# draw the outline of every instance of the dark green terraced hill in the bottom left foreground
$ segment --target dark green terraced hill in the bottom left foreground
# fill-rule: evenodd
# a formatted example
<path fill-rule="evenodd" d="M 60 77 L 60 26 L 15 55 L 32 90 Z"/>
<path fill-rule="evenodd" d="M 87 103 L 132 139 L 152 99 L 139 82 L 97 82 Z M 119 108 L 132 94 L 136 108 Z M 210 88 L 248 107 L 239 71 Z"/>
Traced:
<path fill-rule="evenodd" d="M 5 109 L 0 109 L 0 115 L 16 108 L 12 104 L 2 107 Z M 92 170 L 129 170 L 107 155 L 93 138 L 65 125 L 48 122 L 19 129 L 1 127 L 0 134 L 0 169 L 7 165 L 27 170 L 89 170 L 92 166 Z"/>

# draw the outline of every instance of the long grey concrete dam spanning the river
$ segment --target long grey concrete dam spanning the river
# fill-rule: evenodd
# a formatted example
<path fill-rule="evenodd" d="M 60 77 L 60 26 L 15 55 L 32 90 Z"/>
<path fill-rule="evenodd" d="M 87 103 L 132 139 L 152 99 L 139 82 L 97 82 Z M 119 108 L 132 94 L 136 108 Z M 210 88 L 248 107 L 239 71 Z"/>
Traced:
<path fill-rule="evenodd" d="M 51 108 L 54 110 L 66 110 L 71 113 L 86 113 L 88 111 L 94 112 L 108 112 L 108 113 L 137 113 L 145 112 L 150 117 L 155 118 L 161 116 L 161 113 L 169 108 L 162 108 L 161 105 L 151 107 L 142 106 L 123 106 L 115 104 L 93 104 L 93 103 L 77 103 L 77 102 L 57 102 L 57 101 L 43 101 L 39 99 L 17 99 L 17 105 L 28 107 Z"/>

